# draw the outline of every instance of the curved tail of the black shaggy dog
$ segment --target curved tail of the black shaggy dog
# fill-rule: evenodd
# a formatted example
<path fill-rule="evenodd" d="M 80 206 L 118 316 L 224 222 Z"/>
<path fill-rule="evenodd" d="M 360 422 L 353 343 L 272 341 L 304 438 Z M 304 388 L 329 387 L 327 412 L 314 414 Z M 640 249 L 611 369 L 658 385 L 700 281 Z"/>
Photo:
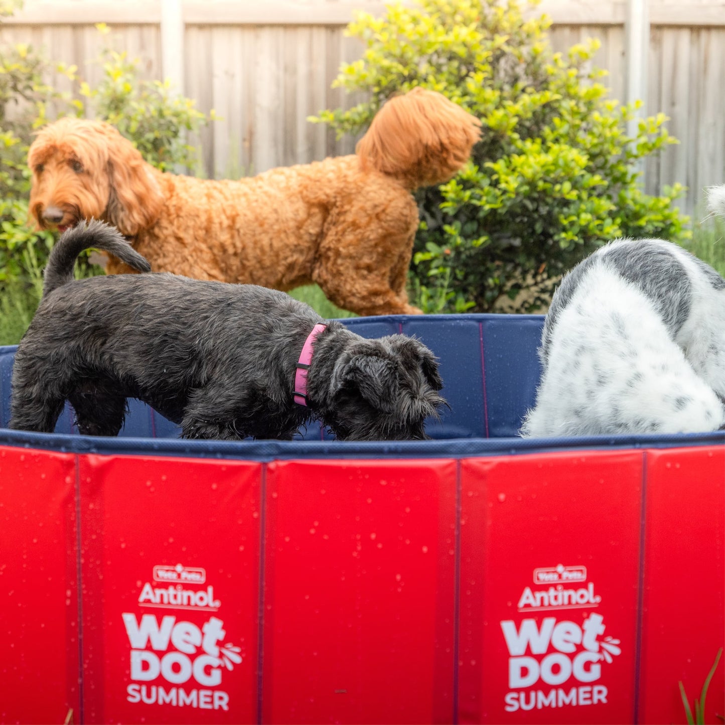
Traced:
<path fill-rule="evenodd" d="M 43 282 L 43 297 L 73 279 L 73 266 L 80 252 L 90 247 L 110 252 L 139 272 L 150 272 L 151 265 L 136 252 L 123 235 L 112 226 L 98 220 L 81 222 L 60 236 L 51 249 Z"/>

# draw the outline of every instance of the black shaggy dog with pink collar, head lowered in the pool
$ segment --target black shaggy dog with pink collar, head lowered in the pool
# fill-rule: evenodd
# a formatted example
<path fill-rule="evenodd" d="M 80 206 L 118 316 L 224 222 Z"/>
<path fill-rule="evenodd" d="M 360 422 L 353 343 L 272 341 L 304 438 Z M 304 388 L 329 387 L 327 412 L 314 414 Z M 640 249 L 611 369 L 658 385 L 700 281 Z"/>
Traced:
<path fill-rule="evenodd" d="M 11 428 L 51 432 L 69 400 L 82 434 L 115 436 L 134 397 L 180 423 L 185 438 L 291 439 L 317 418 L 338 439 L 425 439 L 424 419 L 445 403 L 436 357 L 414 338 L 363 339 L 330 321 L 300 365 L 323 322 L 302 302 L 169 273 L 74 280 L 89 247 L 149 272 L 104 223 L 61 236 L 15 355 Z M 306 398 L 295 397 L 298 368 Z"/>

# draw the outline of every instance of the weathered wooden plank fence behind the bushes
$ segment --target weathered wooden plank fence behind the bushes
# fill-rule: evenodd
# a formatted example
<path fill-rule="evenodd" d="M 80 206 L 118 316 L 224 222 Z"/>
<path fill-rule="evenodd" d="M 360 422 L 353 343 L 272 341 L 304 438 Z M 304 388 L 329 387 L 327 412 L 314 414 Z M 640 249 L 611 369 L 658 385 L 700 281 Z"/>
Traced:
<path fill-rule="evenodd" d="M 178 13 L 175 39 L 162 32 L 162 17 L 170 8 Z M 170 75 L 200 109 L 215 109 L 221 120 L 199 139 L 204 171 L 237 176 L 351 152 L 354 138 L 337 141 L 307 117 L 359 100 L 331 88 L 340 63 L 362 52 L 359 41 L 343 32 L 354 9 L 381 14 L 384 4 L 26 0 L 22 12 L 0 26 L 0 43 L 43 46 L 49 57 L 78 65 L 93 84 L 101 75 L 94 59 L 109 43 L 94 23 L 107 22 L 112 44 L 141 59 L 144 77 Z M 552 17 L 550 39 L 557 50 L 598 38 L 595 65 L 608 70 L 612 97 L 626 98 L 624 0 L 544 0 L 536 12 Z M 645 110 L 666 113 L 668 129 L 680 144 L 647 161 L 645 188 L 657 193 L 665 185 L 684 183 L 689 194 L 682 206 L 699 216 L 703 188 L 725 181 L 725 0 L 650 0 L 648 14 Z M 170 45 L 174 40 L 176 45 Z M 74 90 L 65 78 L 52 81 Z"/>

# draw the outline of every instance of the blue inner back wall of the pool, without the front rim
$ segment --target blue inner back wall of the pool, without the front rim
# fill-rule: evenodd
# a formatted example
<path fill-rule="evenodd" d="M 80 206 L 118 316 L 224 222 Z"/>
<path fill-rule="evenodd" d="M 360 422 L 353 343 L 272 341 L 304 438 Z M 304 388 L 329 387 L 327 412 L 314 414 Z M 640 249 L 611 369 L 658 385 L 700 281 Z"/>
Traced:
<path fill-rule="evenodd" d="M 363 337 L 402 333 L 421 339 L 440 360 L 442 394 L 450 409 L 441 421 L 428 421 L 434 439 L 515 436 L 534 402 L 540 370 L 537 347 L 541 315 L 426 315 L 342 320 Z M 0 347 L 0 428 L 10 415 L 10 380 L 15 347 Z M 121 437 L 178 438 L 179 428 L 138 400 L 129 401 Z M 56 433 L 75 434 L 66 405 Z M 300 436 L 329 439 L 314 423 Z"/>

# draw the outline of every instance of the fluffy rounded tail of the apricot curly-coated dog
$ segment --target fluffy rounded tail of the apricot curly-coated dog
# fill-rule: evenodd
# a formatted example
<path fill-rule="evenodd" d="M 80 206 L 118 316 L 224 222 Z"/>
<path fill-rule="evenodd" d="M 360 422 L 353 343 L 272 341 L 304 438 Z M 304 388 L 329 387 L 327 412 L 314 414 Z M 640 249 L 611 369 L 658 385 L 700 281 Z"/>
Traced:
<path fill-rule="evenodd" d="M 435 91 L 413 88 L 384 104 L 355 153 L 410 190 L 452 178 L 481 137 L 481 122 Z"/>

